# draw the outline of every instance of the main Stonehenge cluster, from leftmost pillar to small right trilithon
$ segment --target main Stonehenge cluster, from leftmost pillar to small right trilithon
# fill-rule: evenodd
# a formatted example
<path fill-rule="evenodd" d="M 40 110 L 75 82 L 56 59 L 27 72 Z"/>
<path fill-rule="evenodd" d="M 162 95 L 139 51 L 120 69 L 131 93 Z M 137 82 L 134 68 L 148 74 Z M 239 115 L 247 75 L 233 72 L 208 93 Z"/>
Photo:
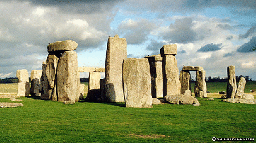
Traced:
<path fill-rule="evenodd" d="M 158 55 L 127 58 L 126 39 L 115 35 L 108 38 L 105 67 L 78 67 L 77 46 L 71 40 L 49 44 L 42 70 L 31 71 L 31 88 L 26 70 L 18 70 L 19 86 L 23 87 L 19 95 L 29 96 L 30 93 L 44 100 L 73 104 L 84 96 L 85 85 L 80 84 L 80 72 L 89 72 L 85 101 L 125 102 L 126 107 L 150 108 L 152 101 L 154 104 L 171 103 L 167 99 L 175 97 L 181 104 L 200 105 L 192 98 L 190 85 L 189 71 L 197 71 L 195 95 L 207 97 L 203 67 L 184 66 L 179 74 L 175 44 L 163 45 Z M 101 79 L 101 72 L 105 72 L 104 79 Z M 26 93 L 24 83 L 28 83 Z"/>

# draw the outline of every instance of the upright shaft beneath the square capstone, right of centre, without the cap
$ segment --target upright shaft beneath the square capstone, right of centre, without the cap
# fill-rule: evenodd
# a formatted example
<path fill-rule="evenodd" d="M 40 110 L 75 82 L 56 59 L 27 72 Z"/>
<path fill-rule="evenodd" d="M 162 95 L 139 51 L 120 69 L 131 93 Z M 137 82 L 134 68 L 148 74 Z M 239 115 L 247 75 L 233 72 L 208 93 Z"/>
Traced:
<path fill-rule="evenodd" d="M 179 69 L 175 55 L 163 57 L 163 96 L 180 94 Z"/>

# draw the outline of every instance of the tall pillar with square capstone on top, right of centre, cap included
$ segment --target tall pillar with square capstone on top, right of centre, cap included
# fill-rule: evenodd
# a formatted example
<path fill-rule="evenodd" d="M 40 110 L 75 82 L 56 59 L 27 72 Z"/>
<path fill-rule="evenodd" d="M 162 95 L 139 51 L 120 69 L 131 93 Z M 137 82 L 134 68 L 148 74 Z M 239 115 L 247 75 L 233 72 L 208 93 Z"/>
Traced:
<path fill-rule="evenodd" d="M 177 45 L 163 45 L 160 49 L 163 57 L 163 95 L 180 94 L 179 69 L 177 68 Z"/>

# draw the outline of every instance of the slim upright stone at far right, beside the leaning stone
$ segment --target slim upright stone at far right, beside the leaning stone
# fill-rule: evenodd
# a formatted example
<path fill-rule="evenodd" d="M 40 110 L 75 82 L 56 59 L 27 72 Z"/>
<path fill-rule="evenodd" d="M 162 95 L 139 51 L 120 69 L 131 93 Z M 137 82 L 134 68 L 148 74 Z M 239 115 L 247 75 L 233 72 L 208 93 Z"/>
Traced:
<path fill-rule="evenodd" d="M 228 66 L 228 85 L 226 87 L 226 98 L 234 98 L 237 90 L 235 66 Z"/>

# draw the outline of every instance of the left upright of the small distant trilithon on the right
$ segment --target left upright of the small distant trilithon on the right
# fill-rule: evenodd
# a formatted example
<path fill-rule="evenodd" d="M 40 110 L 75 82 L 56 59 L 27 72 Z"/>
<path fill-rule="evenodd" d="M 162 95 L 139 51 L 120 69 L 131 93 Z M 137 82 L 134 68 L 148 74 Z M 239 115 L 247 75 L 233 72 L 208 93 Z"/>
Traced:
<path fill-rule="evenodd" d="M 191 90 L 190 78 L 191 75 L 189 71 L 180 71 L 180 94 L 184 94 L 185 90 Z"/>

